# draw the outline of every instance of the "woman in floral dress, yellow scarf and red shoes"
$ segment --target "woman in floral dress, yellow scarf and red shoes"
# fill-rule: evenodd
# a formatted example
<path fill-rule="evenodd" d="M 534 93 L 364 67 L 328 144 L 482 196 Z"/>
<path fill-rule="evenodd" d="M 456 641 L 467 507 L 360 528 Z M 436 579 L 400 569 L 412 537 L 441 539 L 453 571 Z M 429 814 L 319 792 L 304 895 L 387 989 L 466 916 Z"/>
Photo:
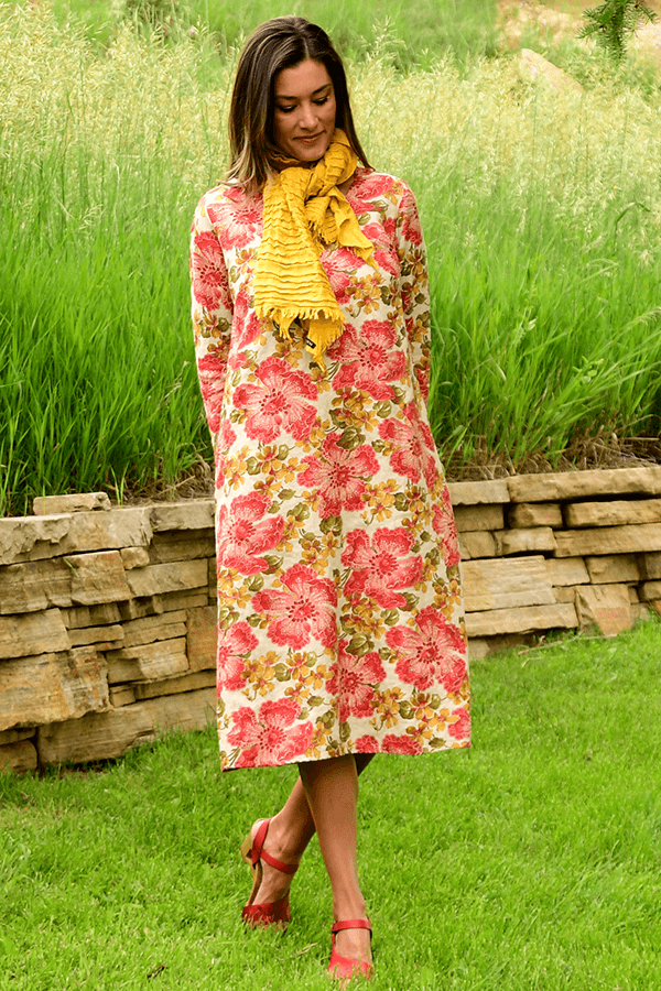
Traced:
<path fill-rule="evenodd" d="M 203 196 L 192 236 L 216 462 L 220 755 L 224 770 L 300 774 L 241 847 L 243 918 L 286 925 L 316 831 L 329 972 L 369 977 L 358 775 L 375 753 L 469 744 L 457 536 L 424 404 L 424 246 L 409 187 L 367 163 L 321 28 L 257 29 L 229 133 L 227 181 Z"/>

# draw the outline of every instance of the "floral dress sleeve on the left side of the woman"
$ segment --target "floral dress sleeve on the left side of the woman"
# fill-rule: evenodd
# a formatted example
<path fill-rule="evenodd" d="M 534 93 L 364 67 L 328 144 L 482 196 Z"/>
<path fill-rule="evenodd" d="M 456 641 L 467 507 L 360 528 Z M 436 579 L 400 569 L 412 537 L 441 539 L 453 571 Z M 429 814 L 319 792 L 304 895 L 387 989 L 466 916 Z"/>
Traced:
<path fill-rule="evenodd" d="M 197 373 L 215 443 L 220 428 L 234 307 L 225 255 L 205 197 L 197 205 L 191 230 L 191 296 Z"/>

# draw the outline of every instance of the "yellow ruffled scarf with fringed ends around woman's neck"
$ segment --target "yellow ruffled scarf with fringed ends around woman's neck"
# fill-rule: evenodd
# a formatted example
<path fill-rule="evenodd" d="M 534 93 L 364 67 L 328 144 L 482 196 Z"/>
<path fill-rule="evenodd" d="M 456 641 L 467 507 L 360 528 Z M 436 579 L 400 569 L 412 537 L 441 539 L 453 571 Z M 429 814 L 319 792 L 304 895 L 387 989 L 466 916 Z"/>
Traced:
<path fill-rule="evenodd" d="M 293 160 L 289 159 L 289 162 Z M 289 165 L 264 189 L 263 236 L 254 270 L 254 312 L 291 340 L 299 320 L 306 345 L 323 366 L 323 352 L 339 337 L 345 317 L 319 255 L 326 244 L 350 248 L 375 265 L 373 244 L 337 188 L 356 171 L 358 159 L 344 131 L 313 168 Z"/>

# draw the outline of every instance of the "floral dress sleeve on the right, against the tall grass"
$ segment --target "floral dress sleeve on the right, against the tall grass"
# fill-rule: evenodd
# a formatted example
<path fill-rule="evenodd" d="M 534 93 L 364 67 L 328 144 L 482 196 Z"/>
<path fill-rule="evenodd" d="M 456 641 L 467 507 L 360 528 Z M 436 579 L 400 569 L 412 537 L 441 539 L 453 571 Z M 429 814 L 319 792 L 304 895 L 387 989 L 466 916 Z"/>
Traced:
<path fill-rule="evenodd" d="M 400 287 L 415 378 L 425 403 L 430 391 L 430 280 L 420 216 L 405 187 L 397 218 Z"/>

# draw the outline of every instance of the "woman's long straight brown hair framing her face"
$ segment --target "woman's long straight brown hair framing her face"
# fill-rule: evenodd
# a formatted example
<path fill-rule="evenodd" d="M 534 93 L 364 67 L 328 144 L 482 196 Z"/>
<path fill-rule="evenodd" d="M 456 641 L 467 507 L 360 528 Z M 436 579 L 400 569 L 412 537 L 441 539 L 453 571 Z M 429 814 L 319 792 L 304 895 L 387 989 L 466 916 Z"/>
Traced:
<path fill-rule="evenodd" d="M 228 182 L 251 192 L 266 183 L 281 154 L 273 134 L 275 76 L 307 58 L 326 67 L 335 90 L 336 127 L 369 167 L 354 127 L 344 65 L 330 39 L 304 18 L 273 18 L 252 32 L 239 58 L 229 109 Z"/>

